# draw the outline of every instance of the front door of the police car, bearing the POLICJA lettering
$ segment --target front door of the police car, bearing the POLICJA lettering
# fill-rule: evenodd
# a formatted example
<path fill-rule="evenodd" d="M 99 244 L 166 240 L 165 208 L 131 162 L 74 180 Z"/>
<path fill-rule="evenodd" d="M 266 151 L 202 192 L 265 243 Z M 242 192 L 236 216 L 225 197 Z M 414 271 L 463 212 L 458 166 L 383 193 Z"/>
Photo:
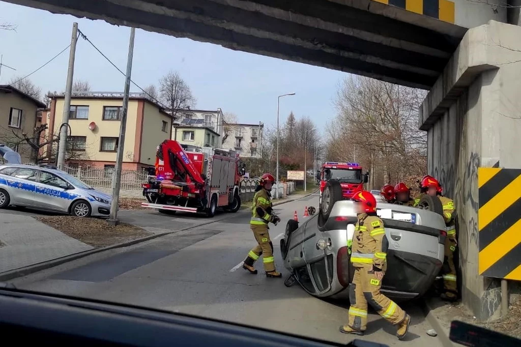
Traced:
<path fill-rule="evenodd" d="M 40 172 L 36 182 L 35 204 L 43 209 L 67 212 L 70 204 L 69 184 L 62 178 L 47 171 Z"/>

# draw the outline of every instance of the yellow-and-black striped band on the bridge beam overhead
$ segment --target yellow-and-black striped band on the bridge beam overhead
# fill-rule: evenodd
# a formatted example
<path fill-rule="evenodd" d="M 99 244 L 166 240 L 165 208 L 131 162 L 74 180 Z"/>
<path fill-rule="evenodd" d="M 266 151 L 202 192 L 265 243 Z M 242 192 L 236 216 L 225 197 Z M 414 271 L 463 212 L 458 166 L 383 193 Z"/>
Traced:
<path fill-rule="evenodd" d="M 454 24 L 454 3 L 449 0 L 374 0 Z"/>

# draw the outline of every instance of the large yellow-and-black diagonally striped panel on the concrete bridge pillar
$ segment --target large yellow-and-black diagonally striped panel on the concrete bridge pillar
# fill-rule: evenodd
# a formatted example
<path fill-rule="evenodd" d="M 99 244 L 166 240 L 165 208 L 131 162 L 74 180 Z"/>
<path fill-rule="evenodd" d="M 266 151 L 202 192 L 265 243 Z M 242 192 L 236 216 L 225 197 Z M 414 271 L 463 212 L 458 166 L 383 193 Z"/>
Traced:
<path fill-rule="evenodd" d="M 521 280 L 521 170 L 478 169 L 479 274 Z"/>

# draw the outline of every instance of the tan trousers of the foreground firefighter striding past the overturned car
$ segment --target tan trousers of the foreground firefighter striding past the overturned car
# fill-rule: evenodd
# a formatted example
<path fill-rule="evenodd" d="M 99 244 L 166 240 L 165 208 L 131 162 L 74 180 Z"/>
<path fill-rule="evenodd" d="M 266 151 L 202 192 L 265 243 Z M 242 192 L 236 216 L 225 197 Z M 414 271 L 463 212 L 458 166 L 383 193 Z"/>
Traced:
<path fill-rule="evenodd" d="M 397 325 L 405 319 L 405 311 L 380 292 L 381 279 L 375 277 L 370 267 L 356 267 L 353 283 L 349 285 L 349 323 L 357 331 L 367 327 L 367 304 L 373 306 L 380 316 Z"/>

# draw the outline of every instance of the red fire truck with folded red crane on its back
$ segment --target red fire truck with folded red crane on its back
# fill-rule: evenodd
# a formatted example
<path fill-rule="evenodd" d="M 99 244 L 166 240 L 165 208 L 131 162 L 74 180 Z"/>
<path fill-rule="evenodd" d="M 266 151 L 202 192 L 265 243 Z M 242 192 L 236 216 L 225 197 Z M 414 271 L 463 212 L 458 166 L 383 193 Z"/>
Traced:
<path fill-rule="evenodd" d="M 183 149 L 185 147 L 187 151 Z M 237 212 L 244 167 L 234 151 L 183 146 L 165 140 L 157 147 L 155 168 L 143 184 L 148 202 L 142 207 L 173 214 L 204 212 L 213 217 L 217 208 Z"/>

